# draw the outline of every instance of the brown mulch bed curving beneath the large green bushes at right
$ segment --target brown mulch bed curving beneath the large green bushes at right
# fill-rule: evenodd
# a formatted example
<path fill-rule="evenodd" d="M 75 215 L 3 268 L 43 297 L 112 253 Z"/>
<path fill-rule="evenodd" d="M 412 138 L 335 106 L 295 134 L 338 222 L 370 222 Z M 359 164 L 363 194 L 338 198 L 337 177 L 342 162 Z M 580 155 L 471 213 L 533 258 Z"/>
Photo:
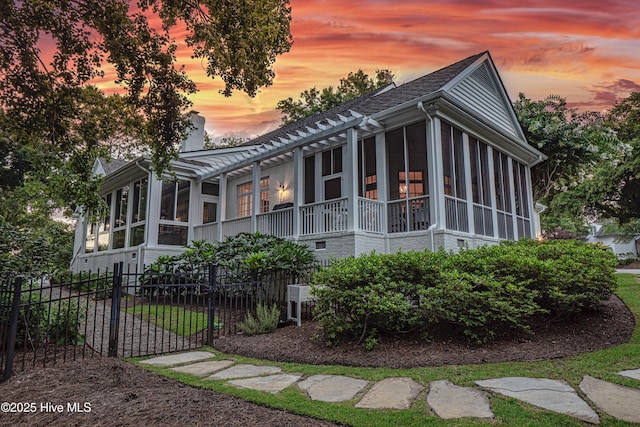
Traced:
<path fill-rule="evenodd" d="M 221 337 L 214 347 L 229 354 L 241 354 L 281 362 L 322 365 L 413 368 L 474 363 L 535 361 L 573 356 L 628 342 L 635 319 L 617 296 L 605 301 L 600 310 L 578 319 L 550 323 L 535 335 L 514 335 L 483 346 L 458 340 L 387 339 L 373 351 L 349 343 L 327 347 L 311 337 L 318 332 L 315 322 L 287 326 L 266 335 Z"/>

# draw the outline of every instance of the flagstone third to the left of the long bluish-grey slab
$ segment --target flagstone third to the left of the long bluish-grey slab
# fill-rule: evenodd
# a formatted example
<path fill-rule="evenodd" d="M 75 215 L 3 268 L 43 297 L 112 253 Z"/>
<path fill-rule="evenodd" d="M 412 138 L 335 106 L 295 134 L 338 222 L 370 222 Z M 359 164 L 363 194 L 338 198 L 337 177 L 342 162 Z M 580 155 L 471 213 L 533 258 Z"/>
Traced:
<path fill-rule="evenodd" d="M 345 402 L 362 391 L 368 381 L 342 375 L 313 375 L 298 383 L 312 400 L 323 402 Z"/>

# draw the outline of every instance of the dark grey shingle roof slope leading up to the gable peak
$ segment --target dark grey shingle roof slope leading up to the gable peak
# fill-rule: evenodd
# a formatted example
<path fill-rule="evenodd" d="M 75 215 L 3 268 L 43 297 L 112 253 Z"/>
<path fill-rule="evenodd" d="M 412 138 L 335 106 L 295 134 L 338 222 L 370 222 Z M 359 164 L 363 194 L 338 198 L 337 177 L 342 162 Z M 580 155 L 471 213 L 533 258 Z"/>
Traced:
<path fill-rule="evenodd" d="M 387 86 L 376 89 L 358 98 L 354 98 L 350 101 L 337 105 L 329 110 L 313 114 L 309 117 L 300 119 L 297 122 L 275 129 L 248 141 L 243 145 L 259 145 L 270 140 L 277 140 L 280 136 L 286 138 L 287 134 L 295 135 L 297 130 L 305 131 L 307 126 L 316 127 L 316 123 L 319 121 L 335 119 L 338 114 L 349 116 L 349 110 L 369 116 L 392 108 L 396 105 L 411 101 L 412 99 L 436 92 L 485 53 L 486 52 L 481 52 L 470 56 L 456 62 L 455 64 L 451 64 L 400 86 L 394 85 L 394 87 L 391 88 Z"/>

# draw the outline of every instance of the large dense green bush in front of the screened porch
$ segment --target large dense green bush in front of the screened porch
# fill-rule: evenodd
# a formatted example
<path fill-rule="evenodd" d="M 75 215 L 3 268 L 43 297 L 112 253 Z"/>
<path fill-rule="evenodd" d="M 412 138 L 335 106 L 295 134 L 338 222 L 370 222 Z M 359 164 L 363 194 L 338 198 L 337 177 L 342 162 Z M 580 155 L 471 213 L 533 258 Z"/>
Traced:
<path fill-rule="evenodd" d="M 327 344 L 372 347 L 378 335 L 462 333 L 476 343 L 596 308 L 616 259 L 579 241 L 521 240 L 457 254 L 367 254 L 334 260 L 311 284 Z"/>

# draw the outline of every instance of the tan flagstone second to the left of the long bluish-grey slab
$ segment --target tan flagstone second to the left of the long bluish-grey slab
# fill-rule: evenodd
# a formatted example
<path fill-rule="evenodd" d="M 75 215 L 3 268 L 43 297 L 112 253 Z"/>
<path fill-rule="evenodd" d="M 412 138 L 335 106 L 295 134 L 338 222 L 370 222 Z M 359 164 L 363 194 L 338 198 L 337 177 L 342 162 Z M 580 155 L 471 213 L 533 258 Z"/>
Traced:
<path fill-rule="evenodd" d="M 386 378 L 375 383 L 356 408 L 409 409 L 422 390 L 411 378 Z"/>

